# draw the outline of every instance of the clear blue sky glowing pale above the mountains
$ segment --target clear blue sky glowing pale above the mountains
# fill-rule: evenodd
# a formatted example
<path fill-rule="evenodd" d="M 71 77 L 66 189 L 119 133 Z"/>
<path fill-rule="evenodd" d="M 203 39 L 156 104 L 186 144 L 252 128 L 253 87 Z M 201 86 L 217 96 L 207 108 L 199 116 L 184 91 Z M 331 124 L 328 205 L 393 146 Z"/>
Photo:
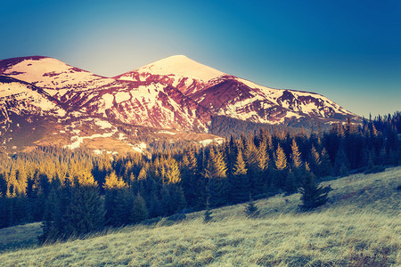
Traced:
<path fill-rule="evenodd" d="M 104 76 L 184 54 L 367 117 L 401 109 L 401 1 L 2 0 L 0 59 Z"/>

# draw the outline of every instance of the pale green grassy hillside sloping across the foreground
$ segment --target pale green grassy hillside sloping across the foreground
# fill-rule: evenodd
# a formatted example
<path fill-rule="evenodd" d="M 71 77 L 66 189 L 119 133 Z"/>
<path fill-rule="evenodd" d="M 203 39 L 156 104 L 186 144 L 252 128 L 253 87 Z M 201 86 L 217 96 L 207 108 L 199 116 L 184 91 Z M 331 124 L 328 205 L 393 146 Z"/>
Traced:
<path fill-rule="evenodd" d="M 188 214 L 181 223 L 129 226 L 87 239 L 0 255 L 4 266 L 399 266 L 401 167 L 324 182 L 329 203 L 300 213 L 299 194 Z"/>

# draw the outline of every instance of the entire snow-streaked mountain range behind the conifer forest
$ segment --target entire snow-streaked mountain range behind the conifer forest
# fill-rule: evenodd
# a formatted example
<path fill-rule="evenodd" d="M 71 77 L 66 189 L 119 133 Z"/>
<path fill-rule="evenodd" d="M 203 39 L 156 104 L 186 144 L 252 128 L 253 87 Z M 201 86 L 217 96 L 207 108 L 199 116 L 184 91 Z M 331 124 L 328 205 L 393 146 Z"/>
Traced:
<path fill-rule="evenodd" d="M 220 140 L 209 134 L 213 117 L 266 125 L 360 119 L 320 94 L 256 85 L 183 55 L 117 77 L 49 57 L 22 57 L 0 61 L 0 75 L 0 137 L 7 147 L 61 144 L 108 151 L 137 149 L 143 139 L 148 145 L 209 142 Z"/>

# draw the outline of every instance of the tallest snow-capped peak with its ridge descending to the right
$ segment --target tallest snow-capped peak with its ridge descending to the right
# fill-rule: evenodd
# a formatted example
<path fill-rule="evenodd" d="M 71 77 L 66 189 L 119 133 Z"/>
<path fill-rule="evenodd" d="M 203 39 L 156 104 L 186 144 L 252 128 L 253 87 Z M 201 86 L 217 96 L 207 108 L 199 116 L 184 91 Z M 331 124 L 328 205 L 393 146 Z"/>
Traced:
<path fill-rule="evenodd" d="M 212 115 L 255 123 L 278 124 L 309 118 L 323 122 L 347 117 L 357 119 L 355 114 L 318 93 L 257 85 L 183 55 L 153 62 L 115 78 L 171 85 L 209 109 Z"/>

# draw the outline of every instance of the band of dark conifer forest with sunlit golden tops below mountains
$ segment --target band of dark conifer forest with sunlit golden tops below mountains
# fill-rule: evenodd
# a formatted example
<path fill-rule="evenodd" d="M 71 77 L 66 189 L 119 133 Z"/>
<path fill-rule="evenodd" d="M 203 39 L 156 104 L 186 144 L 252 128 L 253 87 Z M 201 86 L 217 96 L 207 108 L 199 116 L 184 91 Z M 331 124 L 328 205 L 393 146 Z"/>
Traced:
<path fill-rule="evenodd" d="M 12 157 L 1 153 L 0 227 L 43 222 L 45 242 L 278 192 L 309 194 L 313 197 L 303 199 L 302 207 L 313 208 L 326 193 L 316 180 L 400 164 L 400 118 L 396 112 L 310 134 L 265 128 L 220 145 L 184 146 L 151 158 L 56 147 Z"/>

